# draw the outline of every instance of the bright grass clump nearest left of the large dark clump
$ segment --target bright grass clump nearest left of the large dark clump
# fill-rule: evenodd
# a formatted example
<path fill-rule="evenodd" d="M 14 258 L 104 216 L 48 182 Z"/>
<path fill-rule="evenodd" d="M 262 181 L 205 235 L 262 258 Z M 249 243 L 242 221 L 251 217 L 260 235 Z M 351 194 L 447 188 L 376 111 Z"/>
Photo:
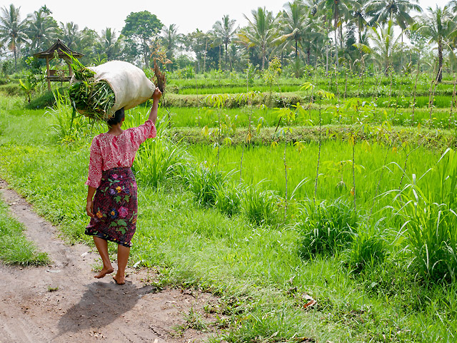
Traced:
<path fill-rule="evenodd" d="M 256 225 L 271 225 L 278 220 L 280 198 L 272 190 L 260 190 L 258 185 L 246 189 L 241 208 L 249 221 Z"/>

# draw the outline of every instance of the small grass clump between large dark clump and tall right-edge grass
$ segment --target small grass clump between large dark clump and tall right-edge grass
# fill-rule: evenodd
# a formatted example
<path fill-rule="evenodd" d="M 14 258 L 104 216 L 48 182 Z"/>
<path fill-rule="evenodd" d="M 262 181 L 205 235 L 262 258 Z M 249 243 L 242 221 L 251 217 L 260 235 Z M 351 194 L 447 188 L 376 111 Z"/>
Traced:
<path fill-rule="evenodd" d="M 378 230 L 379 222 L 380 220 L 373 226 L 363 222 L 354 232 L 351 247 L 342 254 L 343 263 L 351 272 L 359 274 L 384 262 L 388 253 L 388 242 Z"/>

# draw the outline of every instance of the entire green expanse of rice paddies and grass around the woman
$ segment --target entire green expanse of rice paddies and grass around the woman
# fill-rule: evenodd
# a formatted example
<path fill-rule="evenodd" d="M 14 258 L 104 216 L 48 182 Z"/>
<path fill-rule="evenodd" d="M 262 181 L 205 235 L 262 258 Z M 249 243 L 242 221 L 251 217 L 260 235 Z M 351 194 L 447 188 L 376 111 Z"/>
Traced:
<path fill-rule="evenodd" d="M 456 342 L 453 81 L 306 82 L 169 82 L 159 135 L 133 166 L 131 265 L 219 296 L 227 319 L 209 342 Z M 301 101 L 272 106 L 248 91 Z M 124 126 L 148 111 L 129 110 Z M 106 127 L 70 122 L 68 99 L 25 110 L 1 96 L 0 176 L 90 245 L 89 145 Z"/>

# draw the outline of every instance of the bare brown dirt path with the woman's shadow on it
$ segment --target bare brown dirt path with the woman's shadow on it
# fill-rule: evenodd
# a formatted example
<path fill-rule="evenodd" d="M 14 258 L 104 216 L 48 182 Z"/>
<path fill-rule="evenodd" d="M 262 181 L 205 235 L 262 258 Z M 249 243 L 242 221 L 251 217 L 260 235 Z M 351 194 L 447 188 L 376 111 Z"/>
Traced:
<path fill-rule="evenodd" d="M 156 277 L 146 270 L 127 270 L 126 285 L 111 277 L 94 279 L 98 255 L 86 245 L 66 245 L 57 230 L 0 180 L 1 200 L 24 223 L 29 240 L 53 261 L 45 267 L 0 264 L 0 342 L 201 342 L 211 333 L 178 325 L 191 309 L 206 322 L 208 294 L 146 285 Z"/>

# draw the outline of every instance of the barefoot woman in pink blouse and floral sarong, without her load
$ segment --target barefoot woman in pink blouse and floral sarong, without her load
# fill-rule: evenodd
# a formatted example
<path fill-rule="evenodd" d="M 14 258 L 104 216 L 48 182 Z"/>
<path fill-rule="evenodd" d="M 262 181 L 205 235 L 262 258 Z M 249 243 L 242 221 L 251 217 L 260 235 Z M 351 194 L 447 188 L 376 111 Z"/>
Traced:
<path fill-rule="evenodd" d="M 136 181 L 131 165 L 141 143 L 147 138 L 156 137 L 155 125 L 161 96 L 161 91 L 156 88 L 149 118 L 144 124 L 122 130 L 124 108 L 121 108 L 107 122 L 109 130 L 92 140 L 86 182 L 89 186 L 86 213 L 91 217 L 91 222 L 85 233 L 94 236 L 103 262 L 102 270 L 95 275 L 97 279 L 114 272 L 108 254 L 108 241 L 111 241 L 118 245 L 118 270 L 113 278 L 118 285 L 125 283 L 125 269 L 138 214 Z"/>

